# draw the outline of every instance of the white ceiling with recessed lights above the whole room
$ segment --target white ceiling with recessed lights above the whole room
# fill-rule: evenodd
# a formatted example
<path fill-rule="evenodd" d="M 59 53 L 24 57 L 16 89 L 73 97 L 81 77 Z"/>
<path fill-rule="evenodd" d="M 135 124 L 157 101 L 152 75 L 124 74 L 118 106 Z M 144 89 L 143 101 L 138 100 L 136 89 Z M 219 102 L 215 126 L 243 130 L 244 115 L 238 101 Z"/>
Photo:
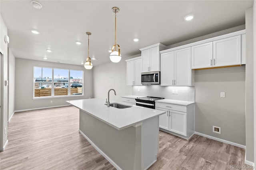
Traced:
<path fill-rule="evenodd" d="M 8 47 L 16 58 L 82 65 L 90 57 L 94 66 L 110 62 L 114 45 L 114 13 L 117 6 L 117 44 L 123 58 L 139 54 L 139 48 L 161 42 L 168 46 L 245 24 L 245 10 L 253 0 L 0 0 L 0 12 L 8 28 Z M 195 18 L 185 21 L 184 16 Z M 40 34 L 32 34 L 36 29 Z M 133 38 L 139 38 L 134 42 Z M 75 42 L 81 41 L 81 45 Z M 52 52 L 46 52 L 51 49 Z"/>

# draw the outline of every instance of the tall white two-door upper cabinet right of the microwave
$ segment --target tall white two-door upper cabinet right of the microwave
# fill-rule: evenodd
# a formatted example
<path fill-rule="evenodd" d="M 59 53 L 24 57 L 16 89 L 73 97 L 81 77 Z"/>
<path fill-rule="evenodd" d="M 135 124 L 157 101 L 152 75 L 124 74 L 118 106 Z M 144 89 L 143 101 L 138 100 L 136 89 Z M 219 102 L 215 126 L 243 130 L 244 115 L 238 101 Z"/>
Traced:
<path fill-rule="evenodd" d="M 193 86 L 191 48 L 161 54 L 161 86 Z"/>

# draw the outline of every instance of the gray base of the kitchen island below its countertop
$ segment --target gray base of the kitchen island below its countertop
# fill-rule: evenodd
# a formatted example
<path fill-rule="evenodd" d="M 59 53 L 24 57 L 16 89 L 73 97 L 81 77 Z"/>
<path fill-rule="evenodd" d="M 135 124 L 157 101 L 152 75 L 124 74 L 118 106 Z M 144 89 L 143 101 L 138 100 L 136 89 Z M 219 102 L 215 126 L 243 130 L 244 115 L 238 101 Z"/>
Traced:
<path fill-rule="evenodd" d="M 156 130 L 150 132 L 152 124 Z M 142 122 L 140 126 L 117 130 L 80 110 L 80 131 L 111 159 L 110 163 L 113 166 L 116 164 L 123 170 L 144 170 L 156 162 L 157 126 L 158 116 Z M 152 141 L 148 142 L 148 139 Z M 102 155 L 104 156 L 104 154 Z M 116 168 L 118 169 L 118 167 Z"/>

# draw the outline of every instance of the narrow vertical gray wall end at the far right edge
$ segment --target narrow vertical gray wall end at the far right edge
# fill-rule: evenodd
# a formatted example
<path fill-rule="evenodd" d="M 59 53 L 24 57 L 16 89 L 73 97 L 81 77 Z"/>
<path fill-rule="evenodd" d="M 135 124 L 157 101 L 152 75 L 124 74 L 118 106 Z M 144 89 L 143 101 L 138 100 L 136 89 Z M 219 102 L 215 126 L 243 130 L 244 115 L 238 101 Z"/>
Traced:
<path fill-rule="evenodd" d="M 246 160 L 254 162 L 254 129 L 253 129 L 253 9 L 246 10 Z"/>

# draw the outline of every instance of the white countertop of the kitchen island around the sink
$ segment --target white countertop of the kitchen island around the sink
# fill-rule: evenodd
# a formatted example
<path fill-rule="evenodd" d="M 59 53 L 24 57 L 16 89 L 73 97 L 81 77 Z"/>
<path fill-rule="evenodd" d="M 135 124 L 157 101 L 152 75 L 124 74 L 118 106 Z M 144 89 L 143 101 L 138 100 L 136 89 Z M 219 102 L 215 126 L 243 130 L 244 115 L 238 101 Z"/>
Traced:
<path fill-rule="evenodd" d="M 154 110 L 140 106 L 132 106 L 124 109 L 114 108 L 111 106 L 107 107 L 105 105 L 106 100 L 101 98 L 69 100 L 66 102 L 118 130 L 128 128 L 130 126 L 140 126 L 140 123 L 143 121 L 165 113 L 162 110 Z M 122 102 L 110 101 L 110 103 Z"/>

